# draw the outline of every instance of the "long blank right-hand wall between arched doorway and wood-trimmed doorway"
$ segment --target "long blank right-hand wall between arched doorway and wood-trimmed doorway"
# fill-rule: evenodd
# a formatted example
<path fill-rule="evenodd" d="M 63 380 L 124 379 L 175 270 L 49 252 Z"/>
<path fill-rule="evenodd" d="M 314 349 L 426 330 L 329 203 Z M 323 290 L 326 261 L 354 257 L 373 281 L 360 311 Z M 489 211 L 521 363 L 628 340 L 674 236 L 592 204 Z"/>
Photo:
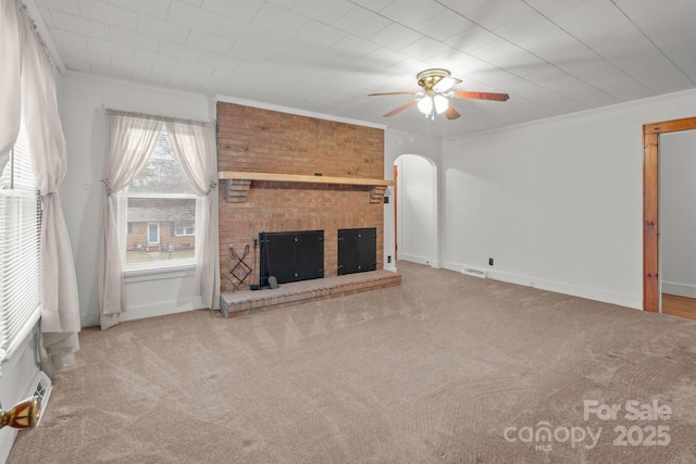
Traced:
<path fill-rule="evenodd" d="M 681 92 L 444 140 L 444 265 L 642 309 L 643 124 L 695 108 Z"/>

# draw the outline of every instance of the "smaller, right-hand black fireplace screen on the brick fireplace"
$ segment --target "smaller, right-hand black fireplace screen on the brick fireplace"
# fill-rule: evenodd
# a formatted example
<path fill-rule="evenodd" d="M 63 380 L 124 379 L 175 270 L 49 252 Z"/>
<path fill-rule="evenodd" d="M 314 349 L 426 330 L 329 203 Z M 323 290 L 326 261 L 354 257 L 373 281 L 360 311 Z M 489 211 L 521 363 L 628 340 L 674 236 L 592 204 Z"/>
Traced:
<path fill-rule="evenodd" d="M 377 268 L 377 229 L 338 229 L 338 275 Z"/>

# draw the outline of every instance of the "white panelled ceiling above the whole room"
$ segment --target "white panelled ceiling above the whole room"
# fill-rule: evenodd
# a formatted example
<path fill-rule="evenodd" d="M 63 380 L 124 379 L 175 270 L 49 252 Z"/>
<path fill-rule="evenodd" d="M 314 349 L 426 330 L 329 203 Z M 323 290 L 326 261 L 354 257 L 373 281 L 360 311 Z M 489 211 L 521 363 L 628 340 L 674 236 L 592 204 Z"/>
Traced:
<path fill-rule="evenodd" d="M 696 0 L 27 1 L 61 71 L 442 137 L 696 87 Z M 430 121 L 368 97 L 430 67 L 510 100 Z"/>

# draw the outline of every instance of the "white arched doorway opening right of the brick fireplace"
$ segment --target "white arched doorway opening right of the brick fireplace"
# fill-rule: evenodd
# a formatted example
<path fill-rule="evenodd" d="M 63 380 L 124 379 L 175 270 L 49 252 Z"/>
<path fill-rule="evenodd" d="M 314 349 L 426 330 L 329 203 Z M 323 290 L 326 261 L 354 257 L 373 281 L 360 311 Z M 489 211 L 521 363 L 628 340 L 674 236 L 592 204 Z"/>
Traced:
<path fill-rule="evenodd" d="M 437 166 L 418 154 L 402 154 L 394 166 L 396 259 L 439 267 Z"/>

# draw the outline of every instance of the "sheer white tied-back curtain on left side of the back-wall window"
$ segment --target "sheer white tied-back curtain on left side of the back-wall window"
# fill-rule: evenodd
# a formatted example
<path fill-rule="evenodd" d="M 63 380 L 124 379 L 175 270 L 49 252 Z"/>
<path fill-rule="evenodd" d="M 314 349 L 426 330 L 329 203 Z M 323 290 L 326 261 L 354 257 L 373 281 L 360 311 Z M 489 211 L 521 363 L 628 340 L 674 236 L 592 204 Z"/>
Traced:
<path fill-rule="evenodd" d="M 119 252 L 116 212 L 111 196 L 123 190 L 146 165 L 162 121 L 107 113 L 107 153 L 104 159 L 103 237 L 99 260 L 101 328 L 119 324 L 123 301 L 123 273 Z"/>

